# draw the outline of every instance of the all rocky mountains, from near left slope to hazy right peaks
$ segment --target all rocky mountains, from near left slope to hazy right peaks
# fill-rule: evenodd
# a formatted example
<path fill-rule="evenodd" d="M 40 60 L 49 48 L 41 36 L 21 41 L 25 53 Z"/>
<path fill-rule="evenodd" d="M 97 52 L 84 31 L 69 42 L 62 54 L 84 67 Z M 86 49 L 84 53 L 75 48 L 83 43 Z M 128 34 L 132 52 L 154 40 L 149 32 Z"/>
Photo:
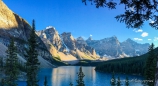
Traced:
<path fill-rule="evenodd" d="M 0 0 L 0 57 L 6 57 L 6 49 L 10 38 L 15 39 L 19 61 L 26 62 L 24 54 L 28 48 L 28 38 L 31 26 L 26 20 L 12 12 Z M 37 31 L 38 59 L 41 67 L 52 67 L 53 58 L 61 61 L 80 59 L 97 60 L 99 56 L 124 57 L 142 55 L 148 51 L 149 44 L 138 44 L 131 39 L 120 43 L 117 37 L 93 40 L 75 39 L 69 32 L 59 34 L 54 27 L 49 26 Z M 98 55 L 97 55 L 98 54 Z M 53 57 L 52 57 L 53 56 Z"/>

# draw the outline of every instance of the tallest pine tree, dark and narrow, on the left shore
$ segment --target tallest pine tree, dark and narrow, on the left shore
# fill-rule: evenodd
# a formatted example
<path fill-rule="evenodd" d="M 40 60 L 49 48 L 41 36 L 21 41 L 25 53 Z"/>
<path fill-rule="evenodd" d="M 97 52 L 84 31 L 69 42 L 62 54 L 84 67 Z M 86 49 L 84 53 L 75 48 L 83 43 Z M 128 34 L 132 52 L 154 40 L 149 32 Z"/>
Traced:
<path fill-rule="evenodd" d="M 38 86 L 37 72 L 39 69 L 38 52 L 37 52 L 37 41 L 35 34 L 35 21 L 32 22 L 32 29 L 30 38 L 28 40 L 29 48 L 26 50 L 27 57 L 27 86 Z"/>

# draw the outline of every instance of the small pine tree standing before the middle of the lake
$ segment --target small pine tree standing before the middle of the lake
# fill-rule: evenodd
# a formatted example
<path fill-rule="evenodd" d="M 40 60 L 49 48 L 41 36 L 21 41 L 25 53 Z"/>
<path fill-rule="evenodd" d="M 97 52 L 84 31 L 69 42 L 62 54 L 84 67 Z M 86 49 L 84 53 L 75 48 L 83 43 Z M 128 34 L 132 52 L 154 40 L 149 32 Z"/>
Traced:
<path fill-rule="evenodd" d="M 79 73 L 77 73 L 77 75 L 78 75 L 78 80 L 76 80 L 77 81 L 77 86 L 85 86 L 84 81 L 83 81 L 83 77 L 85 75 L 82 72 L 82 67 L 80 67 Z"/>

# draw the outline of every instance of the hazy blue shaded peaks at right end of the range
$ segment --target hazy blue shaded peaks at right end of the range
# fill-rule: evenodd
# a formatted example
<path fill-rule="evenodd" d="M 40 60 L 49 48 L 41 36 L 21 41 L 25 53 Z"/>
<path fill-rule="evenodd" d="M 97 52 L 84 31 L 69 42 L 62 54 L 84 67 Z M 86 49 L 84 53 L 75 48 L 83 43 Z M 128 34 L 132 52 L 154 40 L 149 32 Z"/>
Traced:
<path fill-rule="evenodd" d="M 116 36 L 101 40 L 88 38 L 86 43 L 96 49 L 97 54 L 105 57 L 132 57 L 147 53 L 149 44 L 139 44 L 131 39 L 120 43 Z"/>

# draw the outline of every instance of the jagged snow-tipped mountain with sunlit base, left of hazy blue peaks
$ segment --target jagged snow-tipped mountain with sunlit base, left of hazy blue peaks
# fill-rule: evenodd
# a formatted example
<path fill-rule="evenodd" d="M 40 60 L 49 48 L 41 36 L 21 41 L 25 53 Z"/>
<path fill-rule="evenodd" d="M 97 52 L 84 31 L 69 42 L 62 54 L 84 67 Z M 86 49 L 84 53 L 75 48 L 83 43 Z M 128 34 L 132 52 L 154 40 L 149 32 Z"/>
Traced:
<path fill-rule="evenodd" d="M 56 59 L 61 61 L 98 59 L 95 49 L 88 46 L 82 37 L 75 39 L 70 32 L 59 34 L 52 26 L 36 33 Z"/>

